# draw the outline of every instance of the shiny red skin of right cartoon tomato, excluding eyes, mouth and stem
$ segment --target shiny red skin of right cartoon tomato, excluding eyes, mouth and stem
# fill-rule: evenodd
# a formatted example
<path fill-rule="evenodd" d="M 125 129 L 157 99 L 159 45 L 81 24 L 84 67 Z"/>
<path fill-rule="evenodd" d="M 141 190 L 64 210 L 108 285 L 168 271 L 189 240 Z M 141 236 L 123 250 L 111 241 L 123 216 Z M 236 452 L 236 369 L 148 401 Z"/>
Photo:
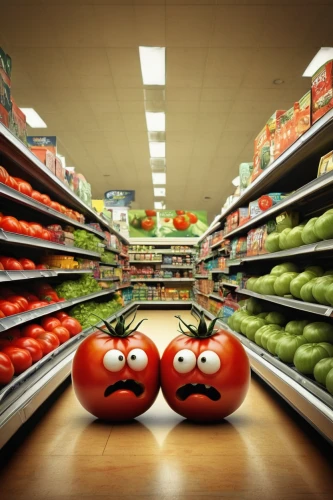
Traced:
<path fill-rule="evenodd" d="M 203 351 L 214 351 L 220 358 L 220 369 L 207 375 L 197 365 L 189 373 L 178 373 L 173 360 L 177 352 L 189 349 L 196 358 Z M 165 349 L 161 359 L 161 388 L 166 402 L 176 412 L 195 422 L 217 422 L 233 413 L 242 404 L 250 384 L 250 363 L 242 344 L 225 330 L 207 339 L 179 335 Z M 202 394 L 193 394 L 184 401 L 176 396 L 186 384 L 204 384 L 221 394 L 212 401 Z"/>

